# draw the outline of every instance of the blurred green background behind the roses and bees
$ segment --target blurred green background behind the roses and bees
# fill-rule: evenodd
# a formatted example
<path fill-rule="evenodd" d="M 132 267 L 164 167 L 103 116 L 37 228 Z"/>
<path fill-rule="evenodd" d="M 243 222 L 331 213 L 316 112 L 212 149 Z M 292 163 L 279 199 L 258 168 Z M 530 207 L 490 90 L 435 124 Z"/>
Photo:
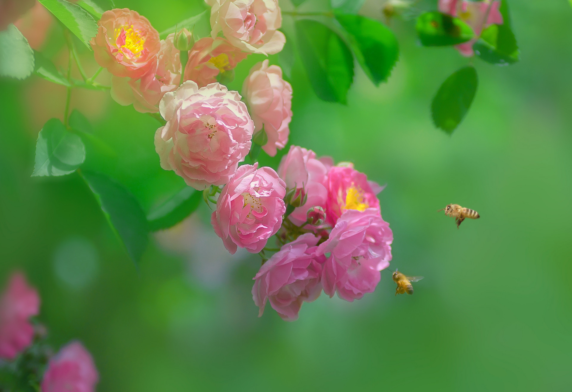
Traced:
<path fill-rule="evenodd" d="M 205 9 L 201 0 L 116 4 L 160 31 Z M 154 235 L 137 269 L 76 173 L 30 177 L 37 133 L 61 118 L 65 97 L 35 76 L 0 81 L 0 282 L 26 272 L 49 342 L 84 342 L 100 391 L 571 390 L 572 9 L 565 0 L 510 5 L 521 62 L 474 60 L 478 92 L 451 137 L 432 125 L 430 101 L 470 60 L 419 46 L 414 21 L 391 21 L 398 65 L 379 88 L 356 68 L 347 106 L 319 101 L 300 62 L 293 68 L 291 143 L 387 183 L 379 197 L 395 236 L 391 268 L 426 277 L 414 295 L 394 296 L 384 271 L 354 303 L 322 295 L 296 322 L 270 307 L 257 318 L 260 259 L 231 258 L 206 205 Z M 45 50 L 65 64 L 57 30 Z M 97 69 L 87 50 L 82 58 L 88 73 Z M 230 87 L 240 90 L 263 58 L 239 64 Z M 90 164 L 146 211 L 182 186 L 159 166 L 153 118 L 104 92 L 74 90 L 73 107 L 117 152 Z M 276 167 L 279 157 L 262 161 Z M 481 218 L 457 230 L 436 212 L 448 203 Z"/>

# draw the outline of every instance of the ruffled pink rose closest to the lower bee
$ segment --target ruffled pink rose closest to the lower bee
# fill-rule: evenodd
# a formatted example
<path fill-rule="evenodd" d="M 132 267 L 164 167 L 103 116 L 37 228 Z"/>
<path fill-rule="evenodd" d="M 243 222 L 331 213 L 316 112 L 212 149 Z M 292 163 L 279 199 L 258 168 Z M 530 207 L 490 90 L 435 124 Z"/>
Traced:
<path fill-rule="evenodd" d="M 393 233 L 379 210 L 348 210 L 337 220 L 318 254 L 331 252 L 324 264 L 321 282 L 330 297 L 337 291 L 352 302 L 374 292 L 384 268 L 390 265 Z"/>

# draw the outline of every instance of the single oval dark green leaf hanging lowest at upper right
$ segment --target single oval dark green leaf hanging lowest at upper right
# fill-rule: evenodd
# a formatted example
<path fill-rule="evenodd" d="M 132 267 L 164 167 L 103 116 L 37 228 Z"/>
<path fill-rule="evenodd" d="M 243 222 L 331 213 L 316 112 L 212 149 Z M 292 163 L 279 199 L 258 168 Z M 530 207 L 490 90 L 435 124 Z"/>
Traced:
<path fill-rule="evenodd" d="M 451 134 L 467 114 L 479 81 L 473 66 L 453 73 L 440 86 L 433 98 L 431 113 L 437 128 Z"/>

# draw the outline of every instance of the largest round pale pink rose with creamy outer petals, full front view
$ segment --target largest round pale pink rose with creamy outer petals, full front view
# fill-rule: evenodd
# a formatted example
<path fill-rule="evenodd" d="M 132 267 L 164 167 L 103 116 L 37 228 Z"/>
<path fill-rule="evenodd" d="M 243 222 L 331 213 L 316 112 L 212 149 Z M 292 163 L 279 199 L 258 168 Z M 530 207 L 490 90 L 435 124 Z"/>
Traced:
<path fill-rule="evenodd" d="M 189 80 L 166 93 L 159 109 L 167 120 L 155 133 L 161 167 L 198 190 L 228 183 L 250 151 L 254 127 L 240 94 Z"/>

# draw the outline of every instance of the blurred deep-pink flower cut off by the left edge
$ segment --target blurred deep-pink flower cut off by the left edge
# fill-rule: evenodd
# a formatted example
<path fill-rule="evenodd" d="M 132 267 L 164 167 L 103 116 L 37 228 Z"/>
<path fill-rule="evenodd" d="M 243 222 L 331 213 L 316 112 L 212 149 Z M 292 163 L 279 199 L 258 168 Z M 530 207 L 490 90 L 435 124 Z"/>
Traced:
<path fill-rule="evenodd" d="M 0 358 L 13 359 L 34 338 L 29 318 L 39 312 L 38 292 L 15 272 L 0 299 Z"/>

